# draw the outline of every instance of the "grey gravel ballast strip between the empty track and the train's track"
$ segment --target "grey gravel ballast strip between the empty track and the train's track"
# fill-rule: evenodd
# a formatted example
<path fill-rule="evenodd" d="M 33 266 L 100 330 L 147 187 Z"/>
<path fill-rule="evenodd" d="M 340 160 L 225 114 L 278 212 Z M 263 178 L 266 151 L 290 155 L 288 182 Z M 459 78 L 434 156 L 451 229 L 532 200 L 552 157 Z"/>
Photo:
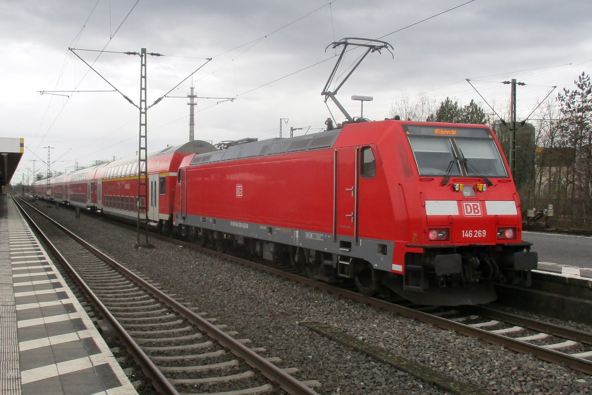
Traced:
<path fill-rule="evenodd" d="M 320 394 L 445 394 L 390 365 L 298 325 L 333 325 L 395 355 L 435 368 L 491 394 L 592 394 L 592 377 L 307 286 L 150 238 L 136 250 L 136 231 L 92 216 L 48 207 L 67 228 L 100 250 L 161 284 L 228 325 L 252 347 L 266 348 L 297 367 L 301 380 L 318 380 Z"/>

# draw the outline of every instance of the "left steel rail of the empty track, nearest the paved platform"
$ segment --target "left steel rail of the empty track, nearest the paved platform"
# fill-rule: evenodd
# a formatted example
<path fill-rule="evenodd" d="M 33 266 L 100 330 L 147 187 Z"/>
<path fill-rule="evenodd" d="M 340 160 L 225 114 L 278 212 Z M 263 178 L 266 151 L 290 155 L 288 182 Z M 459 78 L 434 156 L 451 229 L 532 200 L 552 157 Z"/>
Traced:
<path fill-rule="evenodd" d="M 94 306 L 99 310 L 101 315 L 108 320 L 112 328 L 114 328 L 115 332 L 124 344 L 126 345 L 127 350 L 130 354 L 134 357 L 137 364 L 140 365 L 141 369 L 144 371 L 144 374 L 152 380 L 152 385 L 156 388 L 157 391 L 161 394 L 166 395 L 179 395 L 179 392 L 173 387 L 173 385 L 166 379 L 165 375 L 159 370 L 159 368 L 150 360 L 150 358 L 144 353 L 144 351 L 140 348 L 140 346 L 131 338 L 131 336 L 127 333 L 127 331 L 117 322 L 117 319 L 107 310 L 107 307 L 103 305 L 101 300 L 95 295 L 94 292 L 86 285 L 85 281 L 76 273 L 67 259 L 62 255 L 62 253 L 57 249 L 57 247 L 53 244 L 53 242 L 47 237 L 45 232 L 41 230 L 41 228 L 36 224 L 36 222 L 28 215 L 27 212 L 24 211 L 22 206 L 15 200 L 15 204 L 20 209 L 21 213 L 29 224 L 33 226 L 37 233 L 43 238 L 43 241 L 49 246 L 50 250 L 52 250 L 53 254 L 56 255 L 57 259 L 70 271 L 70 274 L 75 279 L 76 283 L 84 290 L 84 292 L 88 295 L 88 297 L 92 300 Z M 39 212 L 39 211 L 37 211 Z M 48 219 L 52 224 L 56 225 L 57 222 L 53 221 L 53 219 L 49 218 L 47 215 L 39 212 L 44 218 Z M 59 225 L 59 224 L 57 224 Z M 63 230 L 63 226 L 59 225 L 58 228 Z M 83 245 L 86 245 L 85 243 Z"/>

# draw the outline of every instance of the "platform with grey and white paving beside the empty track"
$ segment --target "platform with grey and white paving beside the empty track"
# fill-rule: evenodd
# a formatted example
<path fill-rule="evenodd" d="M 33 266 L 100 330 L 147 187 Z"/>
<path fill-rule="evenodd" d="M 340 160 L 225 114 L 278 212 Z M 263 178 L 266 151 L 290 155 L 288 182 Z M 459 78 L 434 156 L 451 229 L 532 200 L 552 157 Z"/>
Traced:
<path fill-rule="evenodd" d="M 137 394 L 7 195 L 0 195 L 0 393 Z"/>

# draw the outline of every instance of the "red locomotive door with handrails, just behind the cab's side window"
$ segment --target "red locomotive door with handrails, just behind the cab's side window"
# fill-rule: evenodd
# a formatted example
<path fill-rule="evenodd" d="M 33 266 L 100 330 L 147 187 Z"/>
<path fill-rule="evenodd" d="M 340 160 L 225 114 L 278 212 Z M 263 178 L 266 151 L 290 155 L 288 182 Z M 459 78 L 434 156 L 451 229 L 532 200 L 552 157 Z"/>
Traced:
<path fill-rule="evenodd" d="M 335 206 L 334 239 L 337 235 L 350 236 L 358 242 L 358 151 L 341 148 L 334 151 Z"/>

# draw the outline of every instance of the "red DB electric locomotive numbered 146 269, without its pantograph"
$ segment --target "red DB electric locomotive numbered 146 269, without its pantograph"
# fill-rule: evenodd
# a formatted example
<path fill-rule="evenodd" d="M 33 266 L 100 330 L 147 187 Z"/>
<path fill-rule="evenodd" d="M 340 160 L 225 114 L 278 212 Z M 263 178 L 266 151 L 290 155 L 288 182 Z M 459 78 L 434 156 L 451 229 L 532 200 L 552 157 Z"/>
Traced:
<path fill-rule="evenodd" d="M 219 249 L 416 303 L 495 299 L 529 280 L 520 202 L 484 125 L 385 120 L 186 157 L 174 224 Z"/>

